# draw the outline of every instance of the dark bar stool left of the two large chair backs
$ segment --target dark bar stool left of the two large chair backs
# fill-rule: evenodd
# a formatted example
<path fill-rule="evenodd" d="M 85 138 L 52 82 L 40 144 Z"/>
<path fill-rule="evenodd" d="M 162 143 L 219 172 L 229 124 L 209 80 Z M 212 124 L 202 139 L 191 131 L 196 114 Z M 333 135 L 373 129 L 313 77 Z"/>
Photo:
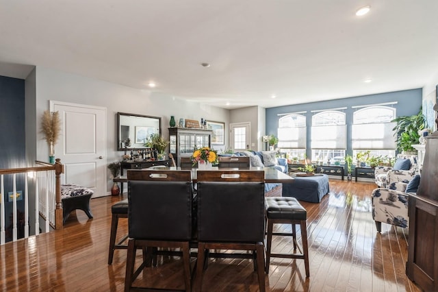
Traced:
<path fill-rule="evenodd" d="M 128 234 L 123 236 L 116 244 L 117 226 L 119 218 L 128 217 L 128 199 L 124 199 L 111 207 L 112 219 L 111 219 L 111 234 L 110 234 L 110 251 L 108 252 L 108 265 L 112 264 L 112 258 L 114 256 L 114 250 L 127 250 L 128 245 L 123 243 L 128 239 Z"/>

